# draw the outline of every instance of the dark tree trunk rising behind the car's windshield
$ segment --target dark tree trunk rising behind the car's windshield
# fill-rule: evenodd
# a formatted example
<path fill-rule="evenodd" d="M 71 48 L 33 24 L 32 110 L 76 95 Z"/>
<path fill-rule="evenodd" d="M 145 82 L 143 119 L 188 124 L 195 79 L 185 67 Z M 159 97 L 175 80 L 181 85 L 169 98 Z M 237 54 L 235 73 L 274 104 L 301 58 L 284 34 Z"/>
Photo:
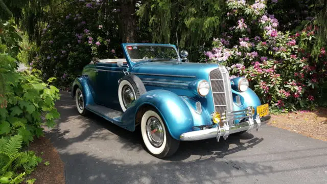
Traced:
<path fill-rule="evenodd" d="M 123 43 L 136 42 L 135 0 L 121 0 L 121 32 Z"/>

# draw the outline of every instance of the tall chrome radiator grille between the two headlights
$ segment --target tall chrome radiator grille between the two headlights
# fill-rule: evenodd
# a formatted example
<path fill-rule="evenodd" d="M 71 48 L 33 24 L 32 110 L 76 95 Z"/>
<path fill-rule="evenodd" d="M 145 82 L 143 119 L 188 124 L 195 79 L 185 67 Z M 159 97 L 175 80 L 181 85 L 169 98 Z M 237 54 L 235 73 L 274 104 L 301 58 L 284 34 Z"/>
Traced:
<path fill-rule="evenodd" d="M 232 109 L 232 95 L 228 71 L 224 66 L 219 66 L 209 74 L 215 111 L 220 114 L 231 112 Z M 229 122 L 232 124 L 233 122 Z"/>

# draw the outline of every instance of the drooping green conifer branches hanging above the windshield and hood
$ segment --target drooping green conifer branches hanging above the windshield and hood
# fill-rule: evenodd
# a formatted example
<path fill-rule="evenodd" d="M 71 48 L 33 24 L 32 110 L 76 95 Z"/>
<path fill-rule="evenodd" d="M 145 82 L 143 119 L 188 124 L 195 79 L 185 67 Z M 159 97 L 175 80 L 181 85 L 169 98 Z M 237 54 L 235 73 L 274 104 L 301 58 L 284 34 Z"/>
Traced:
<path fill-rule="evenodd" d="M 190 60 L 196 62 L 201 45 L 221 30 L 224 1 L 148 0 L 137 11 L 141 22 L 152 33 L 152 42 L 175 43 L 190 51 Z M 144 29 L 144 28 L 143 28 Z"/>

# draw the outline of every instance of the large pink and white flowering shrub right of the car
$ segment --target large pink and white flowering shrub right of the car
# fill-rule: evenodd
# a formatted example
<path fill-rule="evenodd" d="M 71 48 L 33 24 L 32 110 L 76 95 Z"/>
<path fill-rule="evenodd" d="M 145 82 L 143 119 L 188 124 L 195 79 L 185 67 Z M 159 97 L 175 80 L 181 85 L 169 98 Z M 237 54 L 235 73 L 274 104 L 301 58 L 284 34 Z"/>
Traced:
<path fill-rule="evenodd" d="M 325 49 L 318 57 L 310 54 L 315 28 L 294 35 L 278 31 L 278 20 L 266 14 L 266 3 L 227 0 L 226 32 L 204 54 L 209 62 L 227 65 L 231 78 L 248 78 L 263 103 L 287 110 L 308 107 L 327 78 Z"/>

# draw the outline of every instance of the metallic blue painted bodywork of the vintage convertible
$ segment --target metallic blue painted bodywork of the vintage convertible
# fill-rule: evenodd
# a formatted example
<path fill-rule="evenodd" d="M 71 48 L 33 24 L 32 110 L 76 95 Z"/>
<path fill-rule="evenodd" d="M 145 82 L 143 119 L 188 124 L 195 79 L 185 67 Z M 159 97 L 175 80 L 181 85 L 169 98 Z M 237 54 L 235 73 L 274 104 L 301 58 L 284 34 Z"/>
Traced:
<path fill-rule="evenodd" d="M 89 64 L 84 67 L 82 76 L 75 80 L 72 90 L 74 91 L 76 86 L 82 89 L 86 98 L 86 108 L 88 104 L 98 104 L 122 111 L 118 100 L 118 80 L 124 76 L 123 71 L 127 71 L 143 81 L 147 92 L 136 99 L 119 118 L 110 119 L 95 113 L 116 125 L 134 131 L 137 111 L 144 105 L 150 105 L 157 109 L 165 120 L 170 134 L 177 140 L 182 133 L 198 130 L 193 128 L 194 126 L 213 124 L 211 114 L 215 110 L 213 96 L 210 95 L 212 91 L 210 89 L 209 95 L 201 97 L 197 94 L 196 88 L 199 80 L 209 82 L 209 72 L 217 68 L 217 64 L 180 61 L 131 62 L 126 51 L 127 45 L 150 44 L 123 43 L 127 64 L 122 67 L 112 63 Z M 151 45 L 167 46 L 168 44 Z M 177 54 L 175 45 L 168 46 L 174 47 Z M 236 85 L 237 80 L 239 79 L 233 81 Z M 251 89 L 243 93 L 234 89 L 236 88 L 232 87 L 233 110 L 242 110 L 248 106 L 256 108 L 261 105 L 258 96 Z M 240 105 L 236 104 L 236 96 L 240 96 Z M 201 113 L 195 110 L 197 101 L 201 103 Z"/>

